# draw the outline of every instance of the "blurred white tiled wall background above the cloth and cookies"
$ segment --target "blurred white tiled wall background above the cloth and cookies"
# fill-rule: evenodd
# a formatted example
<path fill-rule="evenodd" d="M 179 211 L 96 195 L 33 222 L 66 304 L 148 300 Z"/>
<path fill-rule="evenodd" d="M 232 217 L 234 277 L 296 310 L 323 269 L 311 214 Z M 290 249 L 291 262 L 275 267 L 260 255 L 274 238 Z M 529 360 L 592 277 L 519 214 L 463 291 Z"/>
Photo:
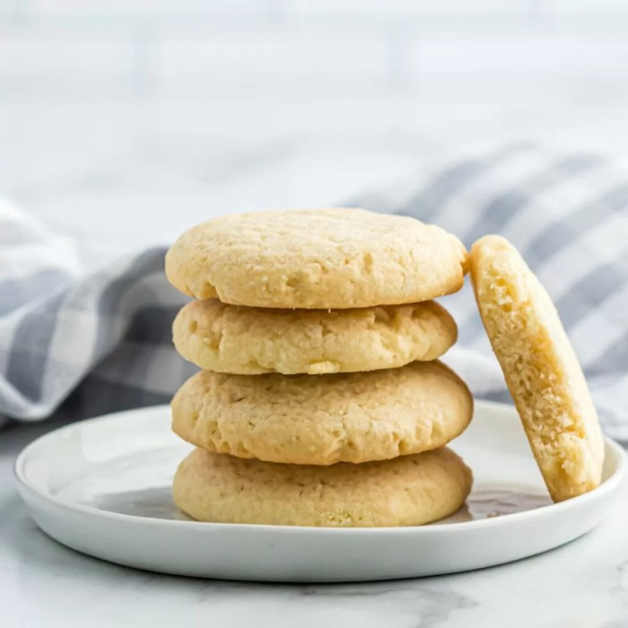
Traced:
<path fill-rule="evenodd" d="M 0 0 L 0 192 L 88 266 L 626 111 L 624 0 Z"/>

